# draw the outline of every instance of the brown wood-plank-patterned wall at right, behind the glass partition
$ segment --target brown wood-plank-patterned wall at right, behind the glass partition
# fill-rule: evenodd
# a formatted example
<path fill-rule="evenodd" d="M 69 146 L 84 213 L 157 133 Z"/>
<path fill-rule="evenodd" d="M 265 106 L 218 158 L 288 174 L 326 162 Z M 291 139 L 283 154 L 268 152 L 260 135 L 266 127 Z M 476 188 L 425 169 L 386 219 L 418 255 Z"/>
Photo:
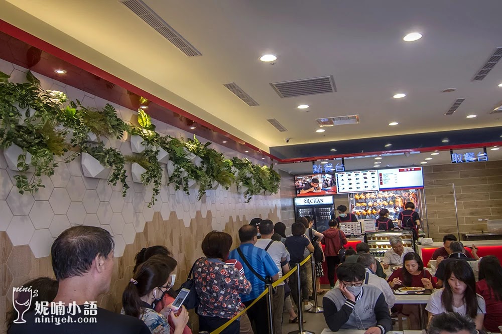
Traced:
<path fill-rule="evenodd" d="M 459 231 L 487 231 L 486 219 L 502 219 L 502 161 L 442 164 L 424 167 L 425 198 L 430 237 L 441 241 Z M 481 221 L 479 221 L 481 219 Z"/>

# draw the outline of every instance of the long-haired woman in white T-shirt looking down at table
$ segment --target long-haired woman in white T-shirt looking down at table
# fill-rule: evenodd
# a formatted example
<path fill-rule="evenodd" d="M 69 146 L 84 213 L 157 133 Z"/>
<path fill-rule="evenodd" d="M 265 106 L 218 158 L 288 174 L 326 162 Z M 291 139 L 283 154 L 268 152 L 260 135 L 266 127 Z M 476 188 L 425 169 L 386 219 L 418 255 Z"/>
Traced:
<path fill-rule="evenodd" d="M 476 294 L 474 272 L 467 261 L 449 262 L 445 269 L 444 288 L 431 295 L 425 309 L 429 312 L 429 320 L 443 312 L 457 312 L 471 317 L 476 329 L 483 328 L 485 301 Z"/>

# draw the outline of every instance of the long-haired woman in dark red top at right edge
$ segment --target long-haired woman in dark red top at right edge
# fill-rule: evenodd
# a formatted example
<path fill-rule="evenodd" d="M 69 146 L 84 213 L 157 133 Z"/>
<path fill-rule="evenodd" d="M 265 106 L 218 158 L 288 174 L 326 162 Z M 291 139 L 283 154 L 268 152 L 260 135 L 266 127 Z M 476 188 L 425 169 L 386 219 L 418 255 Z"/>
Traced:
<path fill-rule="evenodd" d="M 502 267 L 494 255 L 483 256 L 479 261 L 479 282 L 476 292 L 486 302 L 484 327 L 488 331 L 498 332 L 502 324 Z"/>

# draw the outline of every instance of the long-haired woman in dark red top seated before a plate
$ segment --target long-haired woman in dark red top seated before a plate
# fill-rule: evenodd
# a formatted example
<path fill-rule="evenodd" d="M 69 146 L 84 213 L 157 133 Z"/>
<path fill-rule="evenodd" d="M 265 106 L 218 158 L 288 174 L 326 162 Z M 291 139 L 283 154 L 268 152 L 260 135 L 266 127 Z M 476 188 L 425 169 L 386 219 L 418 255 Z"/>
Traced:
<path fill-rule="evenodd" d="M 414 286 L 433 289 L 436 283 L 432 279 L 429 271 L 424 270 L 424 262 L 417 253 L 408 253 L 403 258 L 403 268 L 394 271 L 389 277 L 389 285 L 397 290 L 400 287 Z M 400 307 L 401 306 L 401 307 Z M 409 317 L 411 328 L 420 329 L 420 319 L 418 318 L 419 307 L 425 305 L 398 305 L 398 312 Z"/>

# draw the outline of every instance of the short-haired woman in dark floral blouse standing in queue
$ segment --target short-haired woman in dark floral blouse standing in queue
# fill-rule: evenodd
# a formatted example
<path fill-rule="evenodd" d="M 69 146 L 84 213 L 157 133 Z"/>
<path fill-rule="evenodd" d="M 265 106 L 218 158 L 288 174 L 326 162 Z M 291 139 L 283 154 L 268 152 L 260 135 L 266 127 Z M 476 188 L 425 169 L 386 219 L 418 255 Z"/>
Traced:
<path fill-rule="evenodd" d="M 234 265 L 226 264 L 232 237 L 225 232 L 209 232 L 202 240 L 206 258 L 195 262 L 193 270 L 195 288 L 199 296 L 199 330 L 209 332 L 237 315 L 244 305 L 239 294 L 249 294 L 251 283 Z M 238 334 L 240 321 L 226 327 L 222 334 Z"/>

